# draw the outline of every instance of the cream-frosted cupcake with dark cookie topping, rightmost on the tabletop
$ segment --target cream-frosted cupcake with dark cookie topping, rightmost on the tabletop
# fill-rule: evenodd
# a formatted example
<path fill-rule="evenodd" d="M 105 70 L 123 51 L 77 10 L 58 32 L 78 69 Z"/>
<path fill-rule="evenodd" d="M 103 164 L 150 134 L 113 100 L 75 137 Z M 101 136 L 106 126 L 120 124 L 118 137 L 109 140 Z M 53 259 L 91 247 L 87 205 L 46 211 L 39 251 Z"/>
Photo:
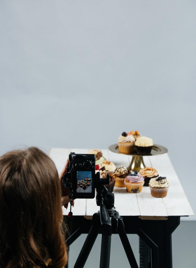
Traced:
<path fill-rule="evenodd" d="M 151 195 L 154 197 L 166 197 L 169 188 L 169 181 L 166 177 L 152 178 L 149 182 Z"/>

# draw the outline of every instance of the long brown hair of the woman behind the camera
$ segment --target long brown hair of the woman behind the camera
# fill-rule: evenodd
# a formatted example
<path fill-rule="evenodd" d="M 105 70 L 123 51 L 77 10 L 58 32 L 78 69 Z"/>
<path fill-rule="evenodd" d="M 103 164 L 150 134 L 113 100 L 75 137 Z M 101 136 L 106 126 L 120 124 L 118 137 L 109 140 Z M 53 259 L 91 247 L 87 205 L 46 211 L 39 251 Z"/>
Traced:
<path fill-rule="evenodd" d="M 53 161 L 40 149 L 0 157 L 0 267 L 67 264 L 61 188 Z"/>

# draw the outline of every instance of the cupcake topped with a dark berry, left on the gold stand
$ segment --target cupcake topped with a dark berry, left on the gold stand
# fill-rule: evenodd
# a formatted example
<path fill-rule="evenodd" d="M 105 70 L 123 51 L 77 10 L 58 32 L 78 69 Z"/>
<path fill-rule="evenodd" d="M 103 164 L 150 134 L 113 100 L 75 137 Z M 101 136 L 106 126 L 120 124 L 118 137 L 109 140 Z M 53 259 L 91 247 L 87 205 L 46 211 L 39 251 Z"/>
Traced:
<path fill-rule="evenodd" d="M 118 138 L 119 153 L 128 155 L 131 154 L 135 149 L 134 143 L 135 143 L 134 136 L 129 132 L 128 133 L 123 132 Z"/>

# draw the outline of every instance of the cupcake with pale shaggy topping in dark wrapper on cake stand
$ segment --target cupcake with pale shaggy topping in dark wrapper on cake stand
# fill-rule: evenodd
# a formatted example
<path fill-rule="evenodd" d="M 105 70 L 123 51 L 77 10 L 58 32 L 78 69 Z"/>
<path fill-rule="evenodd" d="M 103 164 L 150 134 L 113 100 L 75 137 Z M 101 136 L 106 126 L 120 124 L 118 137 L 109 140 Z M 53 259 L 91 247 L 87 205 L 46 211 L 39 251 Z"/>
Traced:
<path fill-rule="evenodd" d="M 141 136 L 135 141 L 135 148 L 138 155 L 150 154 L 153 147 L 153 141 L 151 138 Z"/>

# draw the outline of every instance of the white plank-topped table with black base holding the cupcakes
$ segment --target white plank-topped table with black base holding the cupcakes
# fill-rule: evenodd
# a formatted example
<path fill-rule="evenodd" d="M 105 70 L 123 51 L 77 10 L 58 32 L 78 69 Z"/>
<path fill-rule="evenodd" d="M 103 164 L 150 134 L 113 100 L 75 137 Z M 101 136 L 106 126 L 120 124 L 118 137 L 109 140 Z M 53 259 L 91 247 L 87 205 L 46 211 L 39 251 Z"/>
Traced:
<path fill-rule="evenodd" d="M 60 173 L 70 152 L 87 153 L 88 149 L 61 149 L 50 150 L 58 172 Z M 103 156 L 118 166 L 129 166 L 131 156 L 116 154 L 102 149 Z M 167 154 L 145 156 L 146 166 L 157 169 L 159 176 L 167 177 L 170 186 L 167 196 L 155 198 L 151 196 L 149 187 L 144 186 L 138 194 L 130 194 L 126 188 L 114 187 L 115 207 L 121 216 L 127 233 L 135 233 L 140 236 L 140 260 L 146 260 L 146 266 L 152 268 L 172 268 L 171 235 L 180 224 L 181 216 L 194 215 L 190 203 L 184 193 L 178 176 Z M 70 222 L 72 234 L 67 239 L 71 244 L 81 233 L 88 233 L 91 228 L 92 215 L 99 210 L 94 199 L 75 200 L 72 209 L 73 219 Z M 69 209 L 63 208 L 63 214 L 67 215 Z M 66 217 L 66 216 L 65 216 Z M 67 218 L 69 224 L 69 218 Z M 146 247 L 147 253 L 142 253 Z"/>

